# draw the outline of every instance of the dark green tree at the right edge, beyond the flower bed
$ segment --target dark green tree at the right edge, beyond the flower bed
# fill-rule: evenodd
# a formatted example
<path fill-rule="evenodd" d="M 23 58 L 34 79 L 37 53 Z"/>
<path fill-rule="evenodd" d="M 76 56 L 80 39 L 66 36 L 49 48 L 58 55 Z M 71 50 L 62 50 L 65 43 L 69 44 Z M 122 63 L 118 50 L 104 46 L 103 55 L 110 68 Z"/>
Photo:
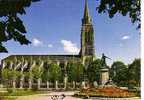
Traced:
<path fill-rule="evenodd" d="M 140 59 L 135 59 L 128 67 L 129 85 L 140 86 Z"/>

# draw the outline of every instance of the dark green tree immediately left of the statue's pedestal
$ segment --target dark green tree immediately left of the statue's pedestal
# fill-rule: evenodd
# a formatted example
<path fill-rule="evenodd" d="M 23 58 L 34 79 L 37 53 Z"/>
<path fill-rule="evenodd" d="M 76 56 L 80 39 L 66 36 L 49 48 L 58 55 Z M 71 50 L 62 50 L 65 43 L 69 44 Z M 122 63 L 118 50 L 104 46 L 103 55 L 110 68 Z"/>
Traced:
<path fill-rule="evenodd" d="M 101 69 L 101 60 L 96 59 L 93 61 L 87 69 L 87 75 L 90 83 L 97 81 L 99 83 L 100 80 L 100 69 Z M 91 84 L 93 85 L 93 84 Z"/>

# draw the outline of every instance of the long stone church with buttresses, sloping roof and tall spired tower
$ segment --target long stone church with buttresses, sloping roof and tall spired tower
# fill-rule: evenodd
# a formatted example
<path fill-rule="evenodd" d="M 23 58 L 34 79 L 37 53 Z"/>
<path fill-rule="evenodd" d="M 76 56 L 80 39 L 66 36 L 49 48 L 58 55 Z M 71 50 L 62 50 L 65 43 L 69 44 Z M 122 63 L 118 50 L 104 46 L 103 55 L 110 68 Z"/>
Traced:
<path fill-rule="evenodd" d="M 45 67 L 50 63 L 62 65 L 62 68 L 65 69 L 69 62 L 74 61 L 85 66 L 87 58 L 95 58 L 94 29 L 89 14 L 87 0 L 85 0 L 80 37 L 81 49 L 77 55 L 10 55 L 2 60 L 1 70 L 13 69 L 24 73 L 25 71 L 31 71 L 31 69 L 36 65 L 39 67 Z M 27 86 L 24 85 L 25 83 L 26 81 L 24 76 L 22 76 L 19 83 L 14 82 L 13 84 L 15 88 L 31 88 L 33 81 L 32 79 L 29 79 L 27 81 Z M 38 81 L 38 85 L 39 87 L 41 86 L 41 80 Z"/>

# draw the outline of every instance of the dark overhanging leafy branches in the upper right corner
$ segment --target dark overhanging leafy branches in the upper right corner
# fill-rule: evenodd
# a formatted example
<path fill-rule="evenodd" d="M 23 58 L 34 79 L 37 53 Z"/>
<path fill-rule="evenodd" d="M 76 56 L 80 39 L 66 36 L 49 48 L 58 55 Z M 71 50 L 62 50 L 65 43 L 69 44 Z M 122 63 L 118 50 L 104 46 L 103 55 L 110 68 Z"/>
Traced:
<path fill-rule="evenodd" d="M 131 22 L 137 23 L 137 28 L 140 28 L 140 0 L 101 0 L 97 10 L 98 13 L 107 12 L 110 18 L 116 13 L 129 15 Z"/>

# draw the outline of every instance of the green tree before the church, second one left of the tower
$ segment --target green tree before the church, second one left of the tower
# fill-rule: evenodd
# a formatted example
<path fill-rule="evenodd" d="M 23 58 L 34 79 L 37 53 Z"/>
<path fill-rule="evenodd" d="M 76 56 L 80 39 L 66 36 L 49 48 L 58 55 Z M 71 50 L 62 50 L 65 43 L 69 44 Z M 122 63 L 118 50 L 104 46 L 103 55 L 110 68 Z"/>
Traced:
<path fill-rule="evenodd" d="M 57 64 L 50 64 L 48 70 L 48 79 L 51 81 L 58 81 L 61 77 L 61 68 Z"/>

